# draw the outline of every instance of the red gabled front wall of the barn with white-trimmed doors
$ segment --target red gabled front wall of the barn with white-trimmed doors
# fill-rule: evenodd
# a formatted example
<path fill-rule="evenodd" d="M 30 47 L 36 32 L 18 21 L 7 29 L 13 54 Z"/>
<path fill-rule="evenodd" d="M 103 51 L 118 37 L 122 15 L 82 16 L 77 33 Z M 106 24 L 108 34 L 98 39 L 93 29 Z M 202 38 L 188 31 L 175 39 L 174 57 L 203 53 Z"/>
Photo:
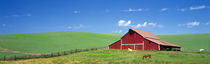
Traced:
<path fill-rule="evenodd" d="M 144 45 L 122 45 L 122 44 L 138 44 L 138 43 L 144 43 Z M 121 48 L 122 47 L 122 48 Z M 141 35 L 134 31 L 129 31 L 129 33 L 125 34 L 121 40 L 113 43 L 109 46 L 110 49 L 138 49 L 138 50 L 159 50 L 158 44 L 153 43 L 145 38 L 143 38 Z"/>

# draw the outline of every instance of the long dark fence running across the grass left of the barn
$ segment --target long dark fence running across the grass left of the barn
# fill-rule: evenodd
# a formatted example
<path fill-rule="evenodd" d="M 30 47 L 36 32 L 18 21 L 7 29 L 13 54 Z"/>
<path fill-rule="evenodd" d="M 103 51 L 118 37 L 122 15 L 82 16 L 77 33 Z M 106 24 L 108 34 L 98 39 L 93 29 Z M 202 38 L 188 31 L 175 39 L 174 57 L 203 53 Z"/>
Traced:
<path fill-rule="evenodd" d="M 49 57 L 68 55 L 68 54 L 82 52 L 82 51 L 99 50 L 99 49 L 105 49 L 105 48 L 75 49 L 75 50 L 67 50 L 63 52 L 45 53 L 41 55 L 3 56 L 0 58 L 0 60 L 7 61 L 7 60 L 21 60 L 21 59 L 32 59 L 32 58 L 49 58 Z"/>

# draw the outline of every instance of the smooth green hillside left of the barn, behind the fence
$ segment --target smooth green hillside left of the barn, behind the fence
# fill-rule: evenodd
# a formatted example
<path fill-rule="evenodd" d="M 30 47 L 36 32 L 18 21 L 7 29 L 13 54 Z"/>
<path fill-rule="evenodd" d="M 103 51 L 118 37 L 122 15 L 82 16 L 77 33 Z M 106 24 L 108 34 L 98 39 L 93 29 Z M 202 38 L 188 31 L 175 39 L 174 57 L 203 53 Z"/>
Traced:
<path fill-rule="evenodd" d="M 30 52 L 46 53 L 76 48 L 105 47 L 121 35 L 89 32 L 49 32 L 0 35 L 0 47 Z"/>

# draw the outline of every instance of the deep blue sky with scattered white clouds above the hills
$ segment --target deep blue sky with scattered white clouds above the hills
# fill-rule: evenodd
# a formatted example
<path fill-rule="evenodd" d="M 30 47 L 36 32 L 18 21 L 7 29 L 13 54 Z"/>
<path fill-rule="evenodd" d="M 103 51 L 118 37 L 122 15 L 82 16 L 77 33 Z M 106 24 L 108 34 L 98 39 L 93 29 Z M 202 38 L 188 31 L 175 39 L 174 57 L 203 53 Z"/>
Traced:
<path fill-rule="evenodd" d="M 209 0 L 0 0 L 0 34 L 210 33 Z"/>

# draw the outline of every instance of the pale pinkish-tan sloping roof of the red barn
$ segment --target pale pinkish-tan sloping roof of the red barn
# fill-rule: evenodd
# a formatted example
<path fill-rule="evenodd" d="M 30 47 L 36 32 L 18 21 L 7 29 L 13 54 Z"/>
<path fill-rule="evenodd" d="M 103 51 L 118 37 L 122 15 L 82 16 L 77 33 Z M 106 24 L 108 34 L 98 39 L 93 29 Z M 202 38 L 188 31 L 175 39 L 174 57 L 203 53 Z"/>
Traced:
<path fill-rule="evenodd" d="M 174 45 L 174 44 L 171 44 L 171 43 L 168 43 L 168 42 L 165 42 L 165 41 L 160 40 L 160 38 L 158 38 L 157 36 L 153 35 L 153 34 L 150 33 L 150 32 L 141 31 L 141 30 L 137 30 L 137 29 L 130 29 L 130 30 L 135 31 L 135 32 L 138 33 L 139 35 L 143 36 L 145 39 L 150 40 L 150 41 L 152 41 L 152 42 L 154 42 L 154 43 L 157 43 L 157 44 L 160 44 L 160 45 L 165 45 L 165 46 L 175 46 L 175 47 L 179 47 L 179 46 L 177 46 L 177 45 Z"/>

